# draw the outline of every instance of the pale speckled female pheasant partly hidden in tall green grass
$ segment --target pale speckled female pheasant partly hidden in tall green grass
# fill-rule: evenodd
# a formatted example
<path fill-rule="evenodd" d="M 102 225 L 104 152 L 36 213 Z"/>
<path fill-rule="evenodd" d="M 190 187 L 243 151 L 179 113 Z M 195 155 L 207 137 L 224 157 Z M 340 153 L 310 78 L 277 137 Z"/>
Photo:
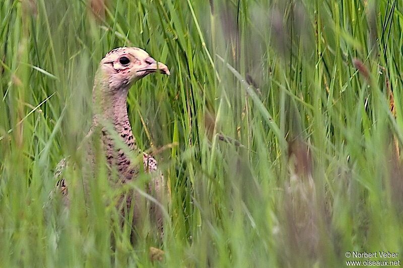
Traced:
<path fill-rule="evenodd" d="M 157 62 L 143 49 L 137 47 L 119 47 L 108 52 L 101 60 L 95 75 L 93 87 L 93 122 L 87 140 L 90 166 L 95 162 L 94 144 L 100 143 L 101 150 L 105 153 L 105 158 L 109 165 L 109 178 L 112 180 L 112 170 L 117 173 L 118 184 L 125 184 L 132 181 L 139 173 L 140 167 L 130 160 L 129 155 L 119 143 L 123 142 L 129 151 L 137 150 L 135 137 L 131 132 L 130 122 L 127 116 L 126 98 L 131 85 L 145 77 L 146 75 L 159 71 L 169 75 L 168 67 Z M 117 135 L 116 135 L 117 134 Z M 117 137 L 117 138 L 116 138 Z M 68 183 L 64 180 L 62 170 L 66 165 L 63 159 L 56 167 L 56 184 L 59 192 L 62 193 L 65 203 L 69 203 Z M 157 169 L 157 161 L 149 154 L 143 153 L 143 168 L 145 172 L 152 173 L 152 181 L 148 192 L 157 201 L 161 202 L 166 191 L 163 175 Z M 84 178 L 89 180 L 90 178 Z M 87 184 L 88 182 L 84 182 Z M 88 190 L 88 189 L 87 189 Z M 140 213 L 138 203 L 139 194 L 132 194 L 135 198 L 134 221 L 138 220 Z M 127 198 L 127 209 L 132 200 Z M 121 201 L 123 198 L 121 199 Z M 141 202 L 140 202 L 141 203 Z M 155 202 L 150 205 L 150 216 L 157 223 L 157 227 L 163 232 L 163 214 L 161 204 Z"/>

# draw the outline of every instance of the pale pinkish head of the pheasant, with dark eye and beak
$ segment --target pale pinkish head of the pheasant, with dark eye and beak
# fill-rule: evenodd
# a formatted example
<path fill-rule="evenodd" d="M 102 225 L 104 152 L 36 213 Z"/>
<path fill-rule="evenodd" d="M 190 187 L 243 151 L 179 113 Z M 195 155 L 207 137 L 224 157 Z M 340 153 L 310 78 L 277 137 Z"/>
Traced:
<path fill-rule="evenodd" d="M 108 83 L 110 90 L 128 88 L 144 76 L 159 71 L 169 75 L 168 67 L 137 47 L 119 47 L 109 51 L 101 60 L 98 79 Z"/>

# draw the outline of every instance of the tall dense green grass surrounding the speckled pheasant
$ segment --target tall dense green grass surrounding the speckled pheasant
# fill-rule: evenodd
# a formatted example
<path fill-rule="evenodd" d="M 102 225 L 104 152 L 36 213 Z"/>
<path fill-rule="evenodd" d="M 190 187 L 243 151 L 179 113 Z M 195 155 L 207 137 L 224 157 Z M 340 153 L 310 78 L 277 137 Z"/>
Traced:
<path fill-rule="evenodd" d="M 2 0 L 1 266 L 399 259 L 402 11 L 397 0 Z M 87 210 L 47 208 L 57 162 L 85 154 L 98 62 L 123 45 L 172 73 L 128 98 L 172 192 L 162 244 L 144 230 L 132 246 L 111 223 L 102 175 Z"/>

